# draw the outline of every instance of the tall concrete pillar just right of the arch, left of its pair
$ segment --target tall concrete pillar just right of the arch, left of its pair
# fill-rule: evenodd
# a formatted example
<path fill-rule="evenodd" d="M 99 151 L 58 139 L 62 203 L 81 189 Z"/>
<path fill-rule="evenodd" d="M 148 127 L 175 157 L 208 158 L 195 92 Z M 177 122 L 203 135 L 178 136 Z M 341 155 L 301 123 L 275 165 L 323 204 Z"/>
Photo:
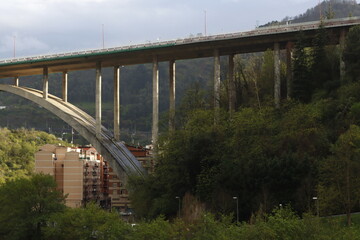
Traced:
<path fill-rule="evenodd" d="M 152 143 L 156 148 L 159 134 L 159 63 L 157 57 L 153 60 L 153 116 L 152 116 Z"/>

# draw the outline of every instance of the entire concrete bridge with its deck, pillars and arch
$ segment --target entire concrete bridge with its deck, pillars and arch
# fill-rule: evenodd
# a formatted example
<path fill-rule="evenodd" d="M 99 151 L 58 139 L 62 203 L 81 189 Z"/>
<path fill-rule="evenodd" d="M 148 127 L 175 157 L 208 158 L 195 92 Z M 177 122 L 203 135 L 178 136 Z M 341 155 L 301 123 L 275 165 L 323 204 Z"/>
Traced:
<path fill-rule="evenodd" d="M 323 26 L 332 36 L 331 44 L 340 44 L 344 47 L 345 36 L 350 27 L 360 24 L 360 18 L 345 18 L 324 20 Z M 126 173 L 137 172 L 142 174 L 143 170 L 139 164 L 134 164 L 133 157 L 127 158 L 112 153 L 111 146 L 119 151 L 125 151 L 124 146 L 119 142 L 120 138 L 120 66 L 134 64 L 153 64 L 153 118 L 152 118 L 152 141 L 157 142 L 158 121 L 159 121 L 159 62 L 169 62 L 169 92 L 170 92 L 170 129 L 174 128 L 175 112 L 175 63 L 176 60 L 214 57 L 214 106 L 219 107 L 220 96 L 220 56 L 228 56 L 228 79 L 229 79 L 229 109 L 235 108 L 234 93 L 234 55 L 241 53 L 253 53 L 274 50 L 274 101 L 277 107 L 280 106 L 280 51 L 287 53 L 287 93 L 291 92 L 291 53 L 294 42 L 297 40 L 299 31 L 304 33 L 306 40 L 316 35 L 320 21 L 307 22 L 303 24 L 280 25 L 267 28 L 258 28 L 253 31 L 214 36 L 201 36 L 165 42 L 146 43 L 117 48 L 106 48 L 64 54 L 53 54 L 36 57 L 26 57 L 0 61 L 0 78 L 14 78 L 14 86 L 2 85 L 0 90 L 11 92 L 28 98 L 49 111 L 57 114 L 65 122 L 74 127 L 98 151 L 105 156 L 106 160 L 113 159 L 120 170 Z M 344 64 L 341 62 L 341 74 Z M 113 67 L 114 69 L 114 140 L 109 132 L 101 125 L 101 69 Z M 92 119 L 84 112 L 80 112 L 75 106 L 67 101 L 68 72 L 84 69 L 96 69 L 96 118 Z M 62 73 L 62 99 L 55 98 L 48 94 L 48 78 L 50 73 Z M 19 78 L 28 75 L 43 75 L 43 91 L 35 91 L 19 87 Z M 36 99 L 33 98 L 36 95 Z M 41 95 L 41 96 L 40 96 Z M 31 96 L 31 97 L 30 97 Z M 39 100 L 39 97 L 42 100 Z M 56 102 L 56 104 L 55 104 Z M 50 105 L 48 105 L 50 104 Z M 53 106 L 62 105 L 55 110 Z M 48 106 L 48 107 L 46 107 Z M 63 112 L 72 111 L 66 117 Z M 86 121 L 76 121 L 78 116 L 84 117 Z M 74 118 L 74 120 L 72 119 Z M 108 147 L 105 147 L 107 145 Z M 101 147 L 103 146 L 103 147 Z M 108 151 L 108 153 L 106 153 Z M 127 153 L 128 155 L 128 153 Z M 130 154 L 131 155 L 131 154 Z M 108 159 L 107 159 L 108 158 Z M 131 161 L 129 159 L 132 159 Z M 111 164 L 111 163 L 110 163 Z"/>

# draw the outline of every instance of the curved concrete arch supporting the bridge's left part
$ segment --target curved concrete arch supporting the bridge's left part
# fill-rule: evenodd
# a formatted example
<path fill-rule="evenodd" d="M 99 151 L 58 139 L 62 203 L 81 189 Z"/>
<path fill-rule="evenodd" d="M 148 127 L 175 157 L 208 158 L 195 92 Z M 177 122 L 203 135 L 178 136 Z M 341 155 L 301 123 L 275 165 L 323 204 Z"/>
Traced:
<path fill-rule="evenodd" d="M 124 178 L 124 174 L 145 174 L 141 163 L 123 143 L 114 140 L 112 133 L 104 126 L 101 130 L 101 139 L 98 139 L 95 133 L 95 119 L 71 103 L 50 94 L 48 99 L 44 99 L 42 91 L 32 88 L 0 84 L 0 91 L 26 98 L 61 118 L 96 148 L 119 177 Z"/>

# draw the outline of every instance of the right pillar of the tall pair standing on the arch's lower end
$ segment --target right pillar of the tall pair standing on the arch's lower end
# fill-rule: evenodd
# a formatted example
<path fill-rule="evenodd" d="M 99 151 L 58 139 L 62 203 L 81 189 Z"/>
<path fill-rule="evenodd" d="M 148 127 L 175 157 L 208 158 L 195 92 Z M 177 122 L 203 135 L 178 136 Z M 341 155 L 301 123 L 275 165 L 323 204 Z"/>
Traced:
<path fill-rule="evenodd" d="M 120 67 L 114 67 L 114 138 L 120 141 Z"/>

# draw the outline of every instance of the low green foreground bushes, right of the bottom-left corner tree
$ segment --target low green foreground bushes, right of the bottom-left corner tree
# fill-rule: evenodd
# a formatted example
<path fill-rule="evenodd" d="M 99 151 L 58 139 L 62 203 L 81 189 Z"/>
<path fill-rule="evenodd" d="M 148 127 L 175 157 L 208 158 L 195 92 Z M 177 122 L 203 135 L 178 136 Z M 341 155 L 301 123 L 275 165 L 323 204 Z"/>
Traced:
<path fill-rule="evenodd" d="M 95 205 L 68 209 L 54 216 L 53 224 L 44 229 L 45 239 L 124 239 L 124 240 L 303 240 L 360 239 L 358 225 L 344 227 L 339 219 L 297 216 L 289 207 L 277 208 L 269 216 L 254 217 L 253 224 L 232 223 L 230 217 L 216 219 L 207 213 L 193 224 L 181 219 L 173 222 L 158 217 L 130 225 L 116 213 L 105 212 Z M 56 224 L 55 224 L 56 223 Z"/>

